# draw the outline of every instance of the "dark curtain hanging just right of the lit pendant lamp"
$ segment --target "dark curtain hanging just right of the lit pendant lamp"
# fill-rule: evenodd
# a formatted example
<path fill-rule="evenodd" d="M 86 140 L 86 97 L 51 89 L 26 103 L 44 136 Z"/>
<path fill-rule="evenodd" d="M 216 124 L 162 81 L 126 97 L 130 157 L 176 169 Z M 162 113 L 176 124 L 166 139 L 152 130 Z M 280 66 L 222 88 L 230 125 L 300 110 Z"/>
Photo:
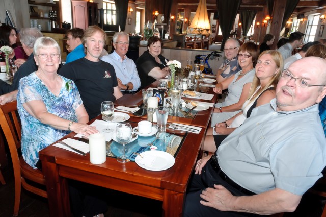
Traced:
<path fill-rule="evenodd" d="M 233 23 L 238 13 L 241 1 L 239 0 L 216 0 L 218 6 L 219 21 L 222 31 L 222 44 L 221 50 L 224 49 L 225 41 L 230 36 L 230 31 L 233 27 Z"/>

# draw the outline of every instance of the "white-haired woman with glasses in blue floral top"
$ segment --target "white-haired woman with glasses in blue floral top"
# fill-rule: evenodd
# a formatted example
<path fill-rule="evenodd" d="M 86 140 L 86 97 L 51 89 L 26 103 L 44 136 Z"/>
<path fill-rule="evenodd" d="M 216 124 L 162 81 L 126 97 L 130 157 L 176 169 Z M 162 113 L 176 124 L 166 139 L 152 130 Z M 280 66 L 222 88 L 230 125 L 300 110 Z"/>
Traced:
<path fill-rule="evenodd" d="M 60 47 L 52 38 L 36 40 L 38 70 L 20 79 L 17 109 L 21 118 L 21 151 L 26 163 L 38 167 L 39 151 L 70 131 L 86 136 L 98 131 L 87 125 L 88 114 L 76 85 L 57 74 Z"/>

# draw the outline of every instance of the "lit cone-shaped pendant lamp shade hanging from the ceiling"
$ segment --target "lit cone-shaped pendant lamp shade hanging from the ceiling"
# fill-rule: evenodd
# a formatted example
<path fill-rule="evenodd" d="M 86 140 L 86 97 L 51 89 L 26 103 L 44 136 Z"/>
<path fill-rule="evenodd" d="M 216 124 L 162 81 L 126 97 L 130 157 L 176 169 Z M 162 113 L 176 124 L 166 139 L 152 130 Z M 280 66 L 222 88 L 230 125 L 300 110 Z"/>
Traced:
<path fill-rule="evenodd" d="M 189 26 L 189 32 L 193 34 L 209 35 L 210 23 L 208 19 L 206 0 L 199 0 L 195 17 Z"/>

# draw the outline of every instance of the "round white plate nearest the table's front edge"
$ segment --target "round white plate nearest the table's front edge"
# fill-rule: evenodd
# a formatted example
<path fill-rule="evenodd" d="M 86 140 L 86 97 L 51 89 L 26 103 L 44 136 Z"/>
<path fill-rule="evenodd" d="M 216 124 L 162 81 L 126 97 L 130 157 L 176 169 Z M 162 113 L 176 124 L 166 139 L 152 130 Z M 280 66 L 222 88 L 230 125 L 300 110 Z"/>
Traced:
<path fill-rule="evenodd" d="M 175 159 L 174 157 L 167 153 L 167 152 L 162 152 L 162 151 L 146 151 L 141 153 L 142 157 L 146 159 L 146 156 L 153 159 L 152 163 L 150 165 L 145 165 L 142 164 L 142 158 L 141 156 L 137 155 L 135 162 L 137 165 L 140 167 L 144 168 L 145 170 L 150 170 L 150 171 L 163 171 L 167 170 L 171 166 L 174 165 Z"/>

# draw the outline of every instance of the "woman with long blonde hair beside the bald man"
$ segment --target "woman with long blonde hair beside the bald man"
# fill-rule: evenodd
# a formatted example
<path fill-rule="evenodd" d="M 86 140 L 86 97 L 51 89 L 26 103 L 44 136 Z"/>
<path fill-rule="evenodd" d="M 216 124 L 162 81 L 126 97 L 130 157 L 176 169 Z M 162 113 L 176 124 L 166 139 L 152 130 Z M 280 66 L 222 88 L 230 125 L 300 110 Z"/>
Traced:
<path fill-rule="evenodd" d="M 267 50 L 259 55 L 249 98 L 243 103 L 242 111 L 225 120 L 225 122 L 216 124 L 214 129 L 208 129 L 205 136 L 204 151 L 216 151 L 221 141 L 243 124 L 254 108 L 267 104 L 275 98 L 275 88 L 283 70 L 282 66 L 283 59 L 278 51 Z M 211 130 L 214 130 L 216 135 L 213 136 Z"/>

